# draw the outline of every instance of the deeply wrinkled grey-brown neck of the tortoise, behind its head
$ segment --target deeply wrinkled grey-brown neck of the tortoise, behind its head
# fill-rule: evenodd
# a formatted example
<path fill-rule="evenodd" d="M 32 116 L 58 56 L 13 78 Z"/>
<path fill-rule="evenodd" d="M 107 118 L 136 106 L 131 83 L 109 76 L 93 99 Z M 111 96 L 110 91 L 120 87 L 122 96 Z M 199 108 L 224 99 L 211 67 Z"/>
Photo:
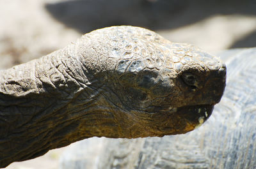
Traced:
<path fill-rule="evenodd" d="M 95 108 L 101 85 L 89 74 L 67 50 L 0 71 L 0 166 L 100 136 L 100 121 L 111 127 Z"/>

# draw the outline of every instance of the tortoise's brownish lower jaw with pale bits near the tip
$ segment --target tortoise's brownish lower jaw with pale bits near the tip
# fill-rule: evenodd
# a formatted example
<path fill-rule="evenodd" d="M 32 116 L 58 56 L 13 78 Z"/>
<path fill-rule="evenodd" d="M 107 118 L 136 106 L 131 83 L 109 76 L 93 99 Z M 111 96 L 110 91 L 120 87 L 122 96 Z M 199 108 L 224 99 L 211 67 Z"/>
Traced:
<path fill-rule="evenodd" d="M 132 111 L 133 119 L 137 119 L 130 129 L 132 138 L 188 133 L 207 121 L 213 108 L 214 105 L 194 105 L 154 113 Z"/>

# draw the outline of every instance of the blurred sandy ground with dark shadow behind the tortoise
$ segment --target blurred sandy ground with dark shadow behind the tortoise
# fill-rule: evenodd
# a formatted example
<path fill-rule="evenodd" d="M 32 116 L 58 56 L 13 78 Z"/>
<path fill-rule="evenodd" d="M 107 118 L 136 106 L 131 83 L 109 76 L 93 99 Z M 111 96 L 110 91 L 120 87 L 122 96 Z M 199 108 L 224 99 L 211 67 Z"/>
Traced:
<path fill-rule="evenodd" d="M 216 54 L 256 47 L 256 0 L 0 0 L 0 69 L 49 54 L 107 26 L 146 27 Z M 61 153 L 8 169 L 58 168 Z"/>

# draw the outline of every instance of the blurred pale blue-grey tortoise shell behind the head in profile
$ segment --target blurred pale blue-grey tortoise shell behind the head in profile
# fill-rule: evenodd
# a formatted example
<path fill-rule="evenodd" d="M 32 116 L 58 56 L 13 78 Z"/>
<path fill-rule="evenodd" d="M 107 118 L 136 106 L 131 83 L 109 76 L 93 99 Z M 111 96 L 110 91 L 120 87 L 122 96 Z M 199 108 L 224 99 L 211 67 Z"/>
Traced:
<path fill-rule="evenodd" d="M 162 138 L 83 140 L 65 151 L 60 168 L 256 168 L 256 48 L 217 55 L 227 64 L 227 86 L 201 128 Z"/>

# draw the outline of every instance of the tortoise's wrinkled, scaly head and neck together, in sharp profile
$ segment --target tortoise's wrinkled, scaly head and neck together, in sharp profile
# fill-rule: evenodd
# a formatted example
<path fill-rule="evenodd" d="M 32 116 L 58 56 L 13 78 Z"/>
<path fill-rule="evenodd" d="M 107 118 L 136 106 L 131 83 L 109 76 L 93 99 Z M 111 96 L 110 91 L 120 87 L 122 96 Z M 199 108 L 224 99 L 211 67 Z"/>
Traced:
<path fill-rule="evenodd" d="M 92 136 L 187 133 L 221 99 L 226 68 L 187 44 L 107 27 L 0 71 L 0 166 Z"/>

